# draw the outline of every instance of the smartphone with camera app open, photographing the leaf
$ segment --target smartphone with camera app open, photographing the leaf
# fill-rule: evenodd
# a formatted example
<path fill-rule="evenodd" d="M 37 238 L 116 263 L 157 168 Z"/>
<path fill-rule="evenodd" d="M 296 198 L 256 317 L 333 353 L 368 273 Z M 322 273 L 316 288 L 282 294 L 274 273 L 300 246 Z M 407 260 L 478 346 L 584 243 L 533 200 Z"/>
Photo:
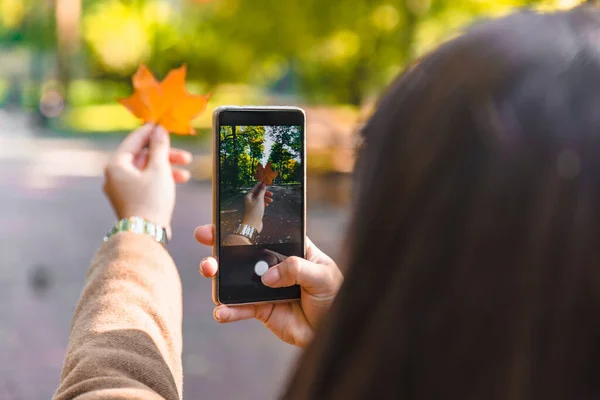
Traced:
<path fill-rule="evenodd" d="M 306 252 L 306 117 L 297 107 L 227 106 L 213 115 L 216 304 L 300 298 L 261 276 Z"/>

